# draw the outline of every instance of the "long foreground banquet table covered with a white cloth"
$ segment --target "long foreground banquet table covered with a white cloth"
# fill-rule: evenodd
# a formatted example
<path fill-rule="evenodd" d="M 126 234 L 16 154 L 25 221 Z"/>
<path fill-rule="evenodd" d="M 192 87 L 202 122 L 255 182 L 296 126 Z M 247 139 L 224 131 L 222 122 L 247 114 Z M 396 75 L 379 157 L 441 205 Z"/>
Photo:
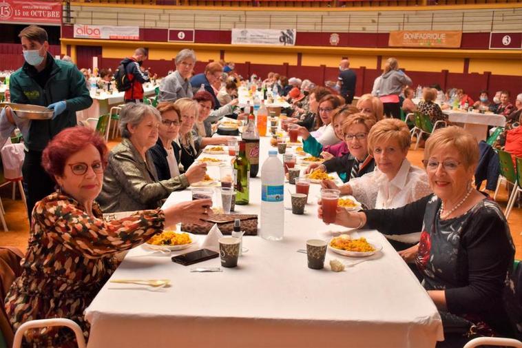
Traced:
<path fill-rule="evenodd" d="M 268 141 L 261 139 L 260 163 Z M 218 167 L 210 166 L 209 175 L 219 178 Z M 236 212 L 259 214 L 259 176 L 250 181 L 251 203 L 236 205 Z M 285 183 L 287 188 L 295 190 Z M 306 266 L 306 254 L 297 249 L 306 249 L 307 239 L 344 230 L 317 218 L 319 190 L 311 185 L 304 215 L 285 209 L 282 241 L 244 237 L 249 251 L 236 268 L 191 273 L 191 267 L 219 267 L 220 259 L 185 267 L 169 256 L 147 256 L 142 247 L 131 250 L 113 279 L 169 278 L 171 287 L 147 291 L 107 283 L 85 312 L 91 323 L 88 347 L 435 347 L 443 339 L 437 309 L 377 231 L 355 232 L 383 246 L 367 262 L 331 272 L 328 260 L 358 259 L 328 251 L 324 269 Z M 165 206 L 189 199 L 190 190 L 174 192 Z M 284 205 L 290 206 L 287 190 Z"/>

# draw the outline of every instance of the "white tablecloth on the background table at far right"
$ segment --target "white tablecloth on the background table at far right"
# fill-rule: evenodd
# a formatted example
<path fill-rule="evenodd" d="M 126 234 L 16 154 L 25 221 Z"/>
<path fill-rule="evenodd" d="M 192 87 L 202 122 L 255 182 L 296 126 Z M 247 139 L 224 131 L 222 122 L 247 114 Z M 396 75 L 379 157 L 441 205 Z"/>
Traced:
<path fill-rule="evenodd" d="M 463 123 L 464 129 L 468 130 L 477 138 L 477 141 L 486 140 L 488 136 L 488 125 L 503 127 L 505 116 L 497 114 L 479 114 L 478 112 L 463 112 L 459 110 L 443 110 L 448 115 L 448 120 Z"/>

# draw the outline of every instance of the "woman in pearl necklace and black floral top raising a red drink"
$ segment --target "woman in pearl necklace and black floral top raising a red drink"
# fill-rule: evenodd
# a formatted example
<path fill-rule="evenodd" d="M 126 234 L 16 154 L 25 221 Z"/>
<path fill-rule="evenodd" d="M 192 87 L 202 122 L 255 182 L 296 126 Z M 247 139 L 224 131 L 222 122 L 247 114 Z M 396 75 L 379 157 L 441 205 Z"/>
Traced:
<path fill-rule="evenodd" d="M 448 328 L 456 325 L 469 328 L 473 323 L 481 328 L 479 334 L 512 334 L 502 293 L 514 245 L 499 205 L 471 186 L 478 159 L 470 133 L 460 127 L 438 130 L 426 141 L 423 161 L 434 194 L 397 209 L 337 209 L 338 225 L 384 234 L 421 231 L 411 255 L 441 313 L 446 336 L 441 346 L 452 340 L 461 347 L 466 341 L 462 334 L 450 334 Z"/>

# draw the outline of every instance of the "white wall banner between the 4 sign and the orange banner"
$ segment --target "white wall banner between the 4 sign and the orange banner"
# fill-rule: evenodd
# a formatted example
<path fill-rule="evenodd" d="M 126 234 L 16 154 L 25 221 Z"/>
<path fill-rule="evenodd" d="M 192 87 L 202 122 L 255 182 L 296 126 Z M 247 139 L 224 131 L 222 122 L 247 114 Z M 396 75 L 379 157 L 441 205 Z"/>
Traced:
<path fill-rule="evenodd" d="M 295 45 L 295 29 L 232 29 L 233 45 Z"/>

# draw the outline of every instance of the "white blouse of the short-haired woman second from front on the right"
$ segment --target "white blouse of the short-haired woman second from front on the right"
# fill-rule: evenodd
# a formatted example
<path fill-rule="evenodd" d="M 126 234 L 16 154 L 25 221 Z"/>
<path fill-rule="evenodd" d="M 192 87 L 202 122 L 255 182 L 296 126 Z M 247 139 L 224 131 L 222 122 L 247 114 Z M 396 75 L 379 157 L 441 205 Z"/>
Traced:
<path fill-rule="evenodd" d="M 426 172 L 411 165 L 406 158 L 392 180 L 388 180 L 388 176 L 375 167 L 373 172 L 351 179 L 348 185 L 352 188 L 355 199 L 370 209 L 403 207 L 432 193 Z M 416 232 L 400 236 L 387 235 L 386 238 L 417 243 L 420 235 L 420 232 Z"/>

